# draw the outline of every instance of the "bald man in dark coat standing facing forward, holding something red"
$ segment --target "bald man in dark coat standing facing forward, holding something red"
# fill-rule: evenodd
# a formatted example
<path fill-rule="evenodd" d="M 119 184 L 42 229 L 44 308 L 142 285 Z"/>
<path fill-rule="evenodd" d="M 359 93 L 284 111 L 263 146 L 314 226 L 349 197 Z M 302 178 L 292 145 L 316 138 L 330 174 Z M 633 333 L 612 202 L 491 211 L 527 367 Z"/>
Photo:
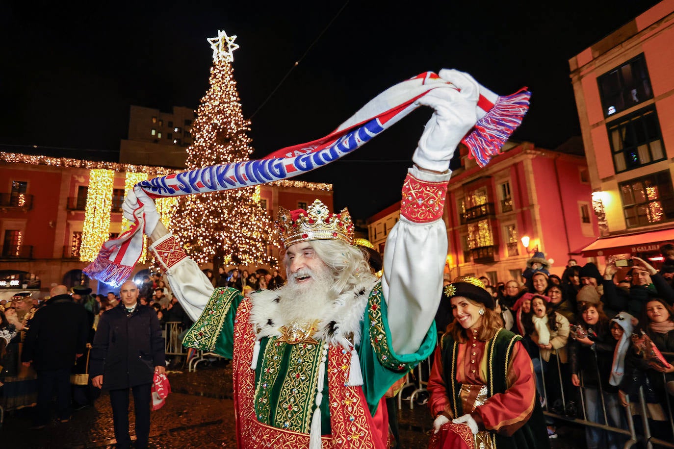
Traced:
<path fill-rule="evenodd" d="M 166 372 L 164 339 L 156 312 L 137 302 L 132 281 L 119 291 L 121 303 L 102 314 L 89 368 L 92 384 L 110 392 L 118 448 L 130 448 L 129 388 L 133 391 L 136 447 L 148 447 L 154 372 Z"/>

